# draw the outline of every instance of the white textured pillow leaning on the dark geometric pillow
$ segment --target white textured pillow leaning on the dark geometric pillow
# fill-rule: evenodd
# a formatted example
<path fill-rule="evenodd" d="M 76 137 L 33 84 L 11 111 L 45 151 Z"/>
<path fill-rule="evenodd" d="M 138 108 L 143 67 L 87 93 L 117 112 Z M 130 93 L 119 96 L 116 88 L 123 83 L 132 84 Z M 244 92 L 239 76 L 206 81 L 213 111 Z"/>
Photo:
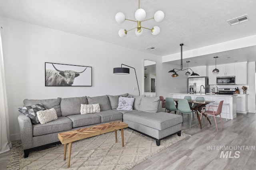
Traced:
<path fill-rule="evenodd" d="M 54 108 L 48 110 L 41 110 L 36 112 L 38 120 L 41 124 L 58 119 L 56 110 Z"/>

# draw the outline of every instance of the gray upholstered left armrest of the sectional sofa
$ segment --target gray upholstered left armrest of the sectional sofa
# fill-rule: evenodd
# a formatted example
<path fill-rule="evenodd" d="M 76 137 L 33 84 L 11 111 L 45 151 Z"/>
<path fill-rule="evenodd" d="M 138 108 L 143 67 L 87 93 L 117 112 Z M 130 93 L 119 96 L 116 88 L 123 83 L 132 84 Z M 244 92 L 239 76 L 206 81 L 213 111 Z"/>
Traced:
<path fill-rule="evenodd" d="M 23 149 L 33 148 L 33 125 L 29 117 L 22 113 L 18 116 L 20 137 Z"/>

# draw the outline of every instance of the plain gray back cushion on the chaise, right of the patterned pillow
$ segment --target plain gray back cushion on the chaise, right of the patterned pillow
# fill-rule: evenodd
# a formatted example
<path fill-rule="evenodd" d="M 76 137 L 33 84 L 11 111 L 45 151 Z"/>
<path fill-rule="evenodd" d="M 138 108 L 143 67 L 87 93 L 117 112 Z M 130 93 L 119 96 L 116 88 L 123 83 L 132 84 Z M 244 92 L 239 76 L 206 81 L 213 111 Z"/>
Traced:
<path fill-rule="evenodd" d="M 159 105 L 159 97 L 152 98 L 152 97 L 144 96 L 141 99 L 138 110 L 156 113 L 158 111 L 158 105 Z"/>

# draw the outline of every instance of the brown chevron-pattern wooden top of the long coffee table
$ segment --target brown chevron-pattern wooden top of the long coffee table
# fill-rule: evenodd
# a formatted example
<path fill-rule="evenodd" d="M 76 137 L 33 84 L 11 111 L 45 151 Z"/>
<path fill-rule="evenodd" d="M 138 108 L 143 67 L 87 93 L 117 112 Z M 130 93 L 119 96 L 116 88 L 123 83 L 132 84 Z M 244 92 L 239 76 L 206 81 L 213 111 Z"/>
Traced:
<path fill-rule="evenodd" d="M 81 139 L 86 139 L 88 137 L 94 137 L 100 134 L 124 129 L 126 127 L 128 127 L 127 123 L 122 121 L 113 121 L 110 123 L 59 133 L 58 138 L 62 144 L 67 144 Z"/>

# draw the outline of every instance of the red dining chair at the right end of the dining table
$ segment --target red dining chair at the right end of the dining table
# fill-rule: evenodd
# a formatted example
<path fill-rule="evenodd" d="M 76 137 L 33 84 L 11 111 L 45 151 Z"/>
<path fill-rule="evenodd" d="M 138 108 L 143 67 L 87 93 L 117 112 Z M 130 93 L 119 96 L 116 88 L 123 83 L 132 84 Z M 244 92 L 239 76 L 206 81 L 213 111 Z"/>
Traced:
<path fill-rule="evenodd" d="M 202 114 L 206 114 L 206 120 L 205 120 L 205 124 L 207 122 L 207 116 L 208 115 L 212 115 L 214 116 L 214 120 L 215 120 L 215 125 L 216 125 L 216 129 L 218 132 L 218 127 L 217 127 L 217 122 L 216 122 L 216 115 L 220 115 L 221 111 L 222 111 L 222 105 L 223 105 L 223 100 L 220 101 L 219 106 L 209 106 L 209 107 L 203 107 L 202 108 Z M 217 111 L 214 111 L 213 107 L 218 107 Z M 203 111 L 204 109 L 207 109 L 206 111 Z M 200 116 L 200 120 L 202 119 L 202 114 Z M 221 115 L 220 115 L 220 121 L 221 121 L 221 125 L 222 125 L 222 129 L 223 129 L 223 124 L 222 124 L 222 119 L 221 119 Z"/>

